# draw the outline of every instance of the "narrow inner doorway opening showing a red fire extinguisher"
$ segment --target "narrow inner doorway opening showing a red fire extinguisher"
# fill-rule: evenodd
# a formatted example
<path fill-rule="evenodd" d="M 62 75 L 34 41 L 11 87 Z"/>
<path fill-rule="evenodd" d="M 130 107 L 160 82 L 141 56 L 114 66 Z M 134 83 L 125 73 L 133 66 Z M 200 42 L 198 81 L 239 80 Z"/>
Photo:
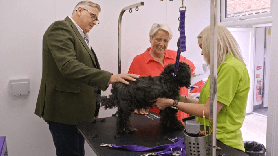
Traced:
<path fill-rule="evenodd" d="M 253 111 L 267 116 L 271 27 L 255 27 Z"/>

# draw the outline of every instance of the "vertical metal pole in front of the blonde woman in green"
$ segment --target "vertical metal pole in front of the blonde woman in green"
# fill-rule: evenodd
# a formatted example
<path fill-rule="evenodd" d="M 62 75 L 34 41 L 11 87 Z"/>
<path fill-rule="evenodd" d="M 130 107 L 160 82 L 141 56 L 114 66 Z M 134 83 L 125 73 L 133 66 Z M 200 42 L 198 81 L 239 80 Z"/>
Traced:
<path fill-rule="evenodd" d="M 216 147 L 216 119 L 217 119 L 217 0 L 211 0 L 211 24 L 210 24 L 210 123 L 209 132 L 212 129 L 212 146 Z M 212 149 L 212 155 L 216 156 L 216 148 Z"/>

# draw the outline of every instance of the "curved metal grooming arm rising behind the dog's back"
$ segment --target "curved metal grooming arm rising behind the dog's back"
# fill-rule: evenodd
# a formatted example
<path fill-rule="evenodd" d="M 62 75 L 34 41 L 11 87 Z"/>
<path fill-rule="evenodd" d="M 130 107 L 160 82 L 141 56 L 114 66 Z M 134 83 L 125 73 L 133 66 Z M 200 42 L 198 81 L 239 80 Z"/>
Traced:
<path fill-rule="evenodd" d="M 144 2 L 136 3 L 133 5 L 129 5 L 125 8 L 122 9 L 120 16 L 119 16 L 119 21 L 118 21 L 118 74 L 121 73 L 121 49 L 122 49 L 122 15 L 126 10 L 129 9 L 129 12 L 132 12 L 132 8 L 135 8 L 136 11 L 138 11 L 138 7 L 143 6 Z"/>

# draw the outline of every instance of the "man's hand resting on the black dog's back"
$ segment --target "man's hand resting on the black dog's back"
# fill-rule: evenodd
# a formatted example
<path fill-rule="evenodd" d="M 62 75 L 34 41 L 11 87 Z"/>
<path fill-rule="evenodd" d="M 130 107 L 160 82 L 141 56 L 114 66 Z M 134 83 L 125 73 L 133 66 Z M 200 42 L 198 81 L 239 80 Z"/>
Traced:
<path fill-rule="evenodd" d="M 121 82 L 121 83 L 125 83 L 125 84 L 129 84 L 129 82 L 125 81 L 125 80 L 130 80 L 130 81 L 136 81 L 136 79 L 138 79 L 140 77 L 140 75 L 136 75 L 136 74 L 116 74 L 116 75 L 112 75 L 109 79 L 109 83 L 116 83 L 116 82 Z"/>

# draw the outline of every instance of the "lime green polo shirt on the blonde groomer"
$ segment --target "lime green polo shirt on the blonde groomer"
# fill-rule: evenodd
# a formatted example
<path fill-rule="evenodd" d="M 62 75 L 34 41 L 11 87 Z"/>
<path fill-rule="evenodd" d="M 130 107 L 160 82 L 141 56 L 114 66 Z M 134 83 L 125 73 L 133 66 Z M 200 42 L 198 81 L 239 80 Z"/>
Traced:
<path fill-rule="evenodd" d="M 246 66 L 233 55 L 217 69 L 217 101 L 224 104 L 217 113 L 216 138 L 224 144 L 245 151 L 240 128 L 245 118 L 250 78 Z M 210 77 L 200 93 L 199 103 L 209 98 Z M 203 119 L 198 121 L 204 124 Z M 209 120 L 206 119 L 206 125 Z"/>

